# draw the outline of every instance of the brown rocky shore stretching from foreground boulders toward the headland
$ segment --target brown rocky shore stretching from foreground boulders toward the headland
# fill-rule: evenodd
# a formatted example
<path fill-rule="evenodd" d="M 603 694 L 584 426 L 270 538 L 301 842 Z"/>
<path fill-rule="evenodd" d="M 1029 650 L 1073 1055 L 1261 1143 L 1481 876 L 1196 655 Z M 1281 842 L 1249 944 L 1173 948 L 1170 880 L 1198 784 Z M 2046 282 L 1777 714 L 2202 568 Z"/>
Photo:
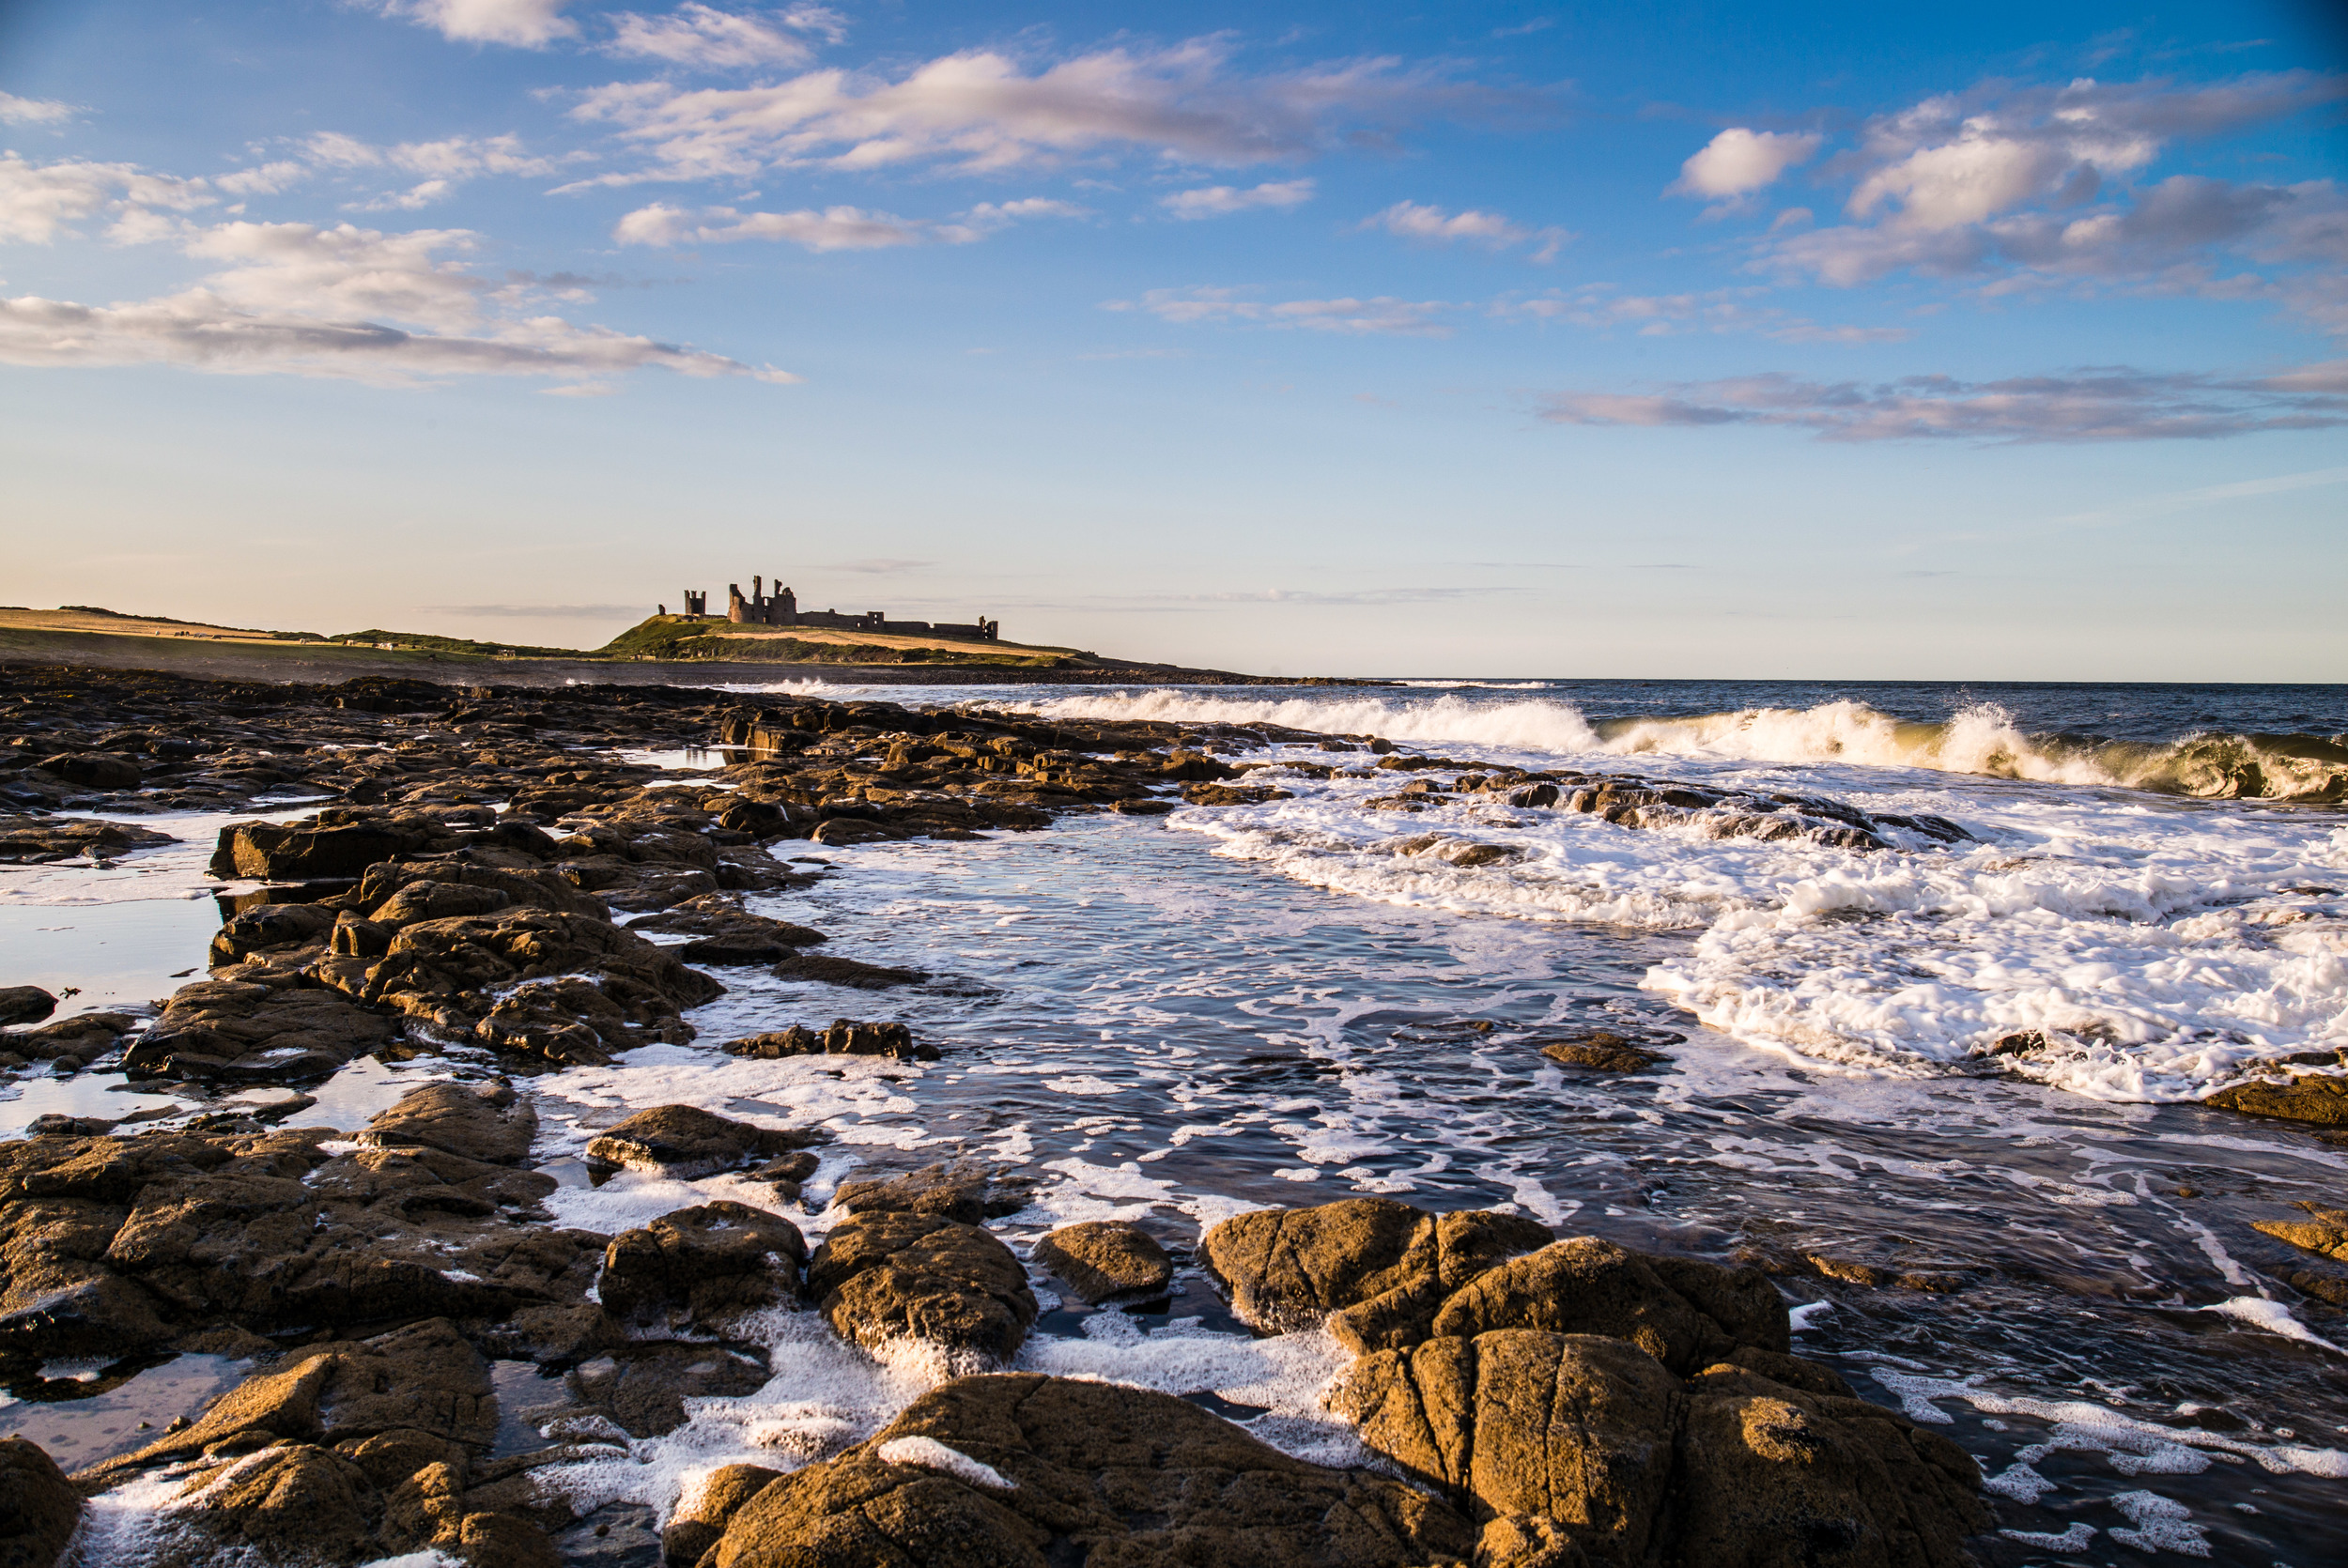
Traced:
<path fill-rule="evenodd" d="M 859 1014 L 925 979 L 756 913 L 747 899 L 831 876 L 794 850 L 1275 798 L 1280 770 L 1219 756 L 1273 739 L 1327 756 L 1305 768 L 1392 777 L 1404 822 L 1430 796 L 1486 793 L 1881 852 L 1956 824 L 1369 737 L 664 685 L 45 669 L 12 676 L 0 739 L 14 864 L 131 854 L 160 840 L 143 815 L 244 815 L 214 845 L 232 892 L 202 979 L 153 1009 L 68 1016 L 0 988 L 0 1068 L 120 1070 L 193 1108 L 162 1127 L 45 1117 L 0 1145 L 0 1378 L 54 1397 L 68 1359 L 103 1364 L 92 1390 L 174 1354 L 249 1368 L 73 1474 L 0 1441 L 7 1563 L 66 1561 L 108 1498 L 150 1509 L 150 1563 L 618 1563 L 549 1476 L 674 1432 L 688 1399 L 765 1385 L 775 1314 L 869 1354 L 920 1343 L 956 1376 L 878 1432 L 693 1476 L 662 1519 L 672 1568 L 1956 1568 L 1991 1523 L 1961 1448 L 1792 1354 L 1787 1303 L 1752 1265 L 1392 1199 L 1240 1214 L 1195 1253 L 1080 1223 L 1021 1258 L 991 1230 L 1028 1204 L 1014 1174 L 843 1181 L 810 1214 L 822 1127 L 679 1103 L 603 1127 L 589 1178 L 730 1174 L 758 1202 L 599 1235 L 554 1218 L 564 1176 L 533 1162 L 533 1080 L 643 1045 L 935 1059 L 885 1016 L 697 1038 L 686 1014 L 730 972 L 817 981 Z M 650 756 L 686 749 L 702 770 Z M 289 800 L 305 815 L 263 819 Z M 1468 850 L 1428 836 L 1421 852 Z M 282 1127 L 362 1056 L 448 1073 L 359 1127 Z M 1613 1035 L 1552 1056 L 1662 1061 Z M 2341 1223 L 2310 1209 L 2271 1235 L 2339 1258 Z M 1205 1268 L 1256 1333 L 1327 1331 L 1355 1357 L 1327 1408 L 1362 1462 L 1291 1458 L 1172 1394 L 1010 1371 L 1038 1286 L 1141 1303 L 1176 1265 Z M 510 1408 L 500 1366 L 552 1392 Z M 540 1441 L 502 1444 L 517 1418 Z"/>

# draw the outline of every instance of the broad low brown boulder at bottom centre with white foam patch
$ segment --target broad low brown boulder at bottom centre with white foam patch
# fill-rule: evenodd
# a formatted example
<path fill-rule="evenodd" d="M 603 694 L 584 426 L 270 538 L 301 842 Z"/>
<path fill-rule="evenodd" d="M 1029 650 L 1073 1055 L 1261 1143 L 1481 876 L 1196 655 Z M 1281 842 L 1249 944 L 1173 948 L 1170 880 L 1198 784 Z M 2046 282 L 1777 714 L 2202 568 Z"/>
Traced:
<path fill-rule="evenodd" d="M 1416 1568 L 1472 1545 L 1442 1502 L 1291 1460 L 1186 1399 L 1000 1373 L 946 1383 L 871 1441 L 768 1483 L 709 1561 Z"/>

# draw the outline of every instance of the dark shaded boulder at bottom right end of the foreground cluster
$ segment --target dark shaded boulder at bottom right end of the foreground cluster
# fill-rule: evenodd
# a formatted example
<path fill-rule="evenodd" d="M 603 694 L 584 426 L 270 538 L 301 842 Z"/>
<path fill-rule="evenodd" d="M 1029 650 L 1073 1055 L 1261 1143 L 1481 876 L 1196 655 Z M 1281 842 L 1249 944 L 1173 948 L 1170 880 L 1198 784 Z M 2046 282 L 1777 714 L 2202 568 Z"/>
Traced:
<path fill-rule="evenodd" d="M 1688 1390 L 1669 1500 L 1681 1563 L 1972 1563 L 1963 1540 L 1991 1519 L 1979 1467 L 1949 1439 L 1747 1368 L 1709 1368 Z"/>

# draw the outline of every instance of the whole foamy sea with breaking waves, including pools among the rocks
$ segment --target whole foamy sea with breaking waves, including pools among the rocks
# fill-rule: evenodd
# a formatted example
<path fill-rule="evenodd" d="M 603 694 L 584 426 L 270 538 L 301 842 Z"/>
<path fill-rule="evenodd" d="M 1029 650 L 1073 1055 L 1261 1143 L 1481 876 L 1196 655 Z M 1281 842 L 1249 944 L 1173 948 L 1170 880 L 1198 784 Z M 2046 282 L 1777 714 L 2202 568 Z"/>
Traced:
<path fill-rule="evenodd" d="M 1993 1563 L 2348 1561 L 2348 1317 L 2317 1279 L 2348 1263 L 2254 1228 L 2348 1209 L 2348 1136 L 2198 1103 L 2256 1063 L 2348 1047 L 2348 685 L 728 690 L 1195 725 L 1223 761 L 1270 763 L 1249 782 L 1287 798 L 977 843 L 777 845 L 831 876 L 754 908 L 930 979 L 850 993 L 728 969 L 728 995 L 690 1014 L 702 1042 L 531 1077 L 561 1223 L 777 1207 L 733 1176 L 596 1185 L 578 1160 L 594 1129 L 664 1101 L 829 1127 L 805 1202 L 782 1207 L 810 1242 L 841 1178 L 956 1157 L 1033 1178 L 1028 1209 L 996 1221 L 1019 1249 L 1082 1218 L 1188 1246 L 1247 1209 L 1352 1195 L 1512 1207 L 1559 1235 L 1768 1263 L 1801 1354 L 1975 1455 L 2003 1509 Z M 1371 800 L 1397 777 L 1449 775 L 1348 777 L 1376 758 L 1324 737 L 1820 796 L 1965 836 L 1716 838 L 1486 793 L 1395 812 Z M 688 779 L 726 758 L 650 761 Z M 99 1005 L 200 972 L 218 819 L 139 822 L 185 843 L 0 871 L 12 984 L 80 984 L 77 1005 Z M 942 1059 L 714 1049 L 841 1014 L 904 1019 Z M 1608 1075 L 1543 1056 L 1594 1030 L 1662 1061 Z M 2033 1049 L 1989 1054 L 2015 1035 Z M 357 1127 L 418 1082 L 493 1066 L 369 1059 L 291 1122 Z M 21 1080 L 0 1089 L 0 1136 L 89 1108 L 174 1113 L 103 1073 Z M 1045 1305 L 1019 1366 L 1186 1394 L 1305 1458 L 1367 1458 L 1320 1408 L 1345 1354 L 1322 1333 L 1251 1336 L 1195 1268 L 1143 1310 Z M 697 1401 L 657 1439 L 603 1432 L 608 1453 L 540 1474 L 594 1519 L 641 1523 L 714 1465 L 857 1441 L 951 1371 L 848 1350 L 805 1312 L 744 1333 L 770 1359 L 763 1390 Z M 139 1373 L 146 1404 L 139 1378 L 106 1401 L 160 1411 L 221 1376 L 183 1359 Z M 535 1368 L 500 1366 L 500 1392 L 517 1448 L 580 1437 L 531 1422 L 533 1399 L 561 1401 Z M 127 1446 L 101 1427 L 70 1401 L 0 1406 L 0 1430 L 80 1444 L 82 1462 Z M 131 1561 L 155 1498 L 94 1507 Z M 599 1537 L 596 1561 L 641 1535 Z"/>

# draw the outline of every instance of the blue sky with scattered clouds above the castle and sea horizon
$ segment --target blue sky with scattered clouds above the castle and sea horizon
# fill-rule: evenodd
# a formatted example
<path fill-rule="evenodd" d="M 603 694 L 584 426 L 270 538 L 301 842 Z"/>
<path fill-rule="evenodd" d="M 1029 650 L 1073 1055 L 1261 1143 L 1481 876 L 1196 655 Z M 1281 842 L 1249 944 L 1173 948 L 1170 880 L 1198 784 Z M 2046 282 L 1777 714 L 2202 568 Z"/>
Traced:
<path fill-rule="evenodd" d="M 0 601 L 2348 681 L 2348 7 L 0 0 Z"/>

